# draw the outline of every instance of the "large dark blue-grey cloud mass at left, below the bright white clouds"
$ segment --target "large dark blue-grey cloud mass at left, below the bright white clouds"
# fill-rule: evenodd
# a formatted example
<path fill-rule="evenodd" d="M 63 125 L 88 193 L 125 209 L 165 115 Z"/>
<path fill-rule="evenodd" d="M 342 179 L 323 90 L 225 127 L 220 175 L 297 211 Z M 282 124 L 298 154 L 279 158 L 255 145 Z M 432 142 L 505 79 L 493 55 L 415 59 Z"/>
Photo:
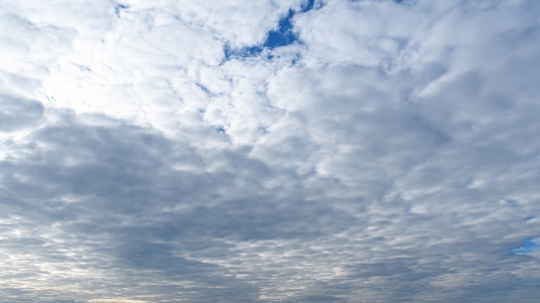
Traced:
<path fill-rule="evenodd" d="M 204 161 L 193 149 L 151 130 L 114 122 L 114 127 L 88 126 L 72 114 L 58 119 L 36 131 L 31 145 L 21 147 L 29 153 L 24 160 L 2 165 L 6 188 L 24 193 L 15 197 L 8 193 L 3 199 L 6 214 L 29 220 L 20 228 L 37 235 L 28 235 L 23 243 L 30 248 L 28 253 L 37 250 L 46 264 L 157 270 L 171 281 L 188 280 L 210 288 L 229 285 L 224 291 L 235 293 L 240 291 L 234 291 L 235 287 L 240 287 L 241 294 L 235 298 L 247 302 L 255 300 L 255 286 L 231 282 L 225 278 L 225 269 L 175 253 L 224 257 L 230 245 L 220 244 L 220 239 L 313 238 L 323 232 L 316 227 L 322 221 L 347 218 L 323 204 L 308 204 L 301 195 L 280 201 L 271 193 L 246 194 L 235 189 L 238 182 L 247 182 L 247 188 L 260 190 L 256 178 L 272 173 L 241 150 L 225 151 L 222 159 L 246 174 L 245 178 L 227 171 L 179 173 L 170 170 L 173 163 L 204 166 Z M 220 190 L 225 192 L 220 194 Z M 176 212 L 175 207 L 186 209 Z M 50 242 L 46 233 L 52 231 L 35 230 L 51 225 L 56 226 L 55 238 L 64 239 L 63 244 Z M 12 249 L 22 245 L 16 239 L 8 243 Z M 62 251 L 70 245 L 82 246 L 79 249 L 88 255 L 105 254 L 112 264 L 78 254 L 68 257 Z M 81 259 L 86 261 L 78 264 Z M 204 293 L 185 296 L 199 302 L 221 296 L 219 288 Z"/>

